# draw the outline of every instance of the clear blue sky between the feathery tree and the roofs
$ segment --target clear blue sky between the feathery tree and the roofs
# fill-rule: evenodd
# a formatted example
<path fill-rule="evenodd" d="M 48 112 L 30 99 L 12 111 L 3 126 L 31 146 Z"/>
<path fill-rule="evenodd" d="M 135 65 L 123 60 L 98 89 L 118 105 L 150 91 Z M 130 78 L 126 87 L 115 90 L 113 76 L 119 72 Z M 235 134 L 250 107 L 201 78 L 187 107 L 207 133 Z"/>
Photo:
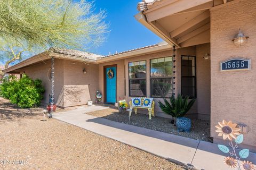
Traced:
<path fill-rule="evenodd" d="M 134 18 L 138 13 L 138 2 L 140 0 L 94 0 L 96 11 L 107 11 L 106 22 L 110 23 L 110 33 L 105 43 L 97 49 L 92 48 L 92 53 L 108 55 L 109 52 L 113 54 L 162 41 Z"/>

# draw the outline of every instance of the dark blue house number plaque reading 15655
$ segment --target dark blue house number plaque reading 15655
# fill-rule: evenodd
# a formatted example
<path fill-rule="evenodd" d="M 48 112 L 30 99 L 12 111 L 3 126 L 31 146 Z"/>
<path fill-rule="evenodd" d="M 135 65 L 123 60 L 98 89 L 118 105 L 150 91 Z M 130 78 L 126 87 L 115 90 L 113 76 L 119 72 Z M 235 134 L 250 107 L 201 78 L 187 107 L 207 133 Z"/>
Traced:
<path fill-rule="evenodd" d="M 231 58 L 220 62 L 220 71 L 250 70 L 251 60 L 245 58 Z"/>

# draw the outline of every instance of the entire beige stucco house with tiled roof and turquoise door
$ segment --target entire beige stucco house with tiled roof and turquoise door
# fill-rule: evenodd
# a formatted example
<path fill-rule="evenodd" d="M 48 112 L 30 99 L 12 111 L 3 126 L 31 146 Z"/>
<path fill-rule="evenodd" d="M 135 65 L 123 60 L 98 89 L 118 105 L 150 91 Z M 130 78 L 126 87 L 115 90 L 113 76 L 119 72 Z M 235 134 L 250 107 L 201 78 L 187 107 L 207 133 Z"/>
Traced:
<path fill-rule="evenodd" d="M 188 116 L 211 120 L 215 143 L 222 140 L 214 126 L 223 119 L 232 120 L 247 127 L 242 148 L 255 152 L 256 1 L 144 0 L 138 10 L 135 19 L 165 42 L 108 56 L 51 49 L 4 72 L 42 79 L 43 102 L 48 103 L 54 58 L 54 101 L 64 108 L 95 101 L 95 92 L 100 90 L 103 103 L 154 97 L 156 115 L 166 116 L 158 100 L 188 95 L 196 98 Z M 250 37 L 243 46 L 232 41 L 238 29 Z M 241 69 L 241 58 L 247 61 L 247 69 Z M 223 69 L 230 59 L 239 66 Z M 111 81 L 110 72 L 114 73 Z"/>

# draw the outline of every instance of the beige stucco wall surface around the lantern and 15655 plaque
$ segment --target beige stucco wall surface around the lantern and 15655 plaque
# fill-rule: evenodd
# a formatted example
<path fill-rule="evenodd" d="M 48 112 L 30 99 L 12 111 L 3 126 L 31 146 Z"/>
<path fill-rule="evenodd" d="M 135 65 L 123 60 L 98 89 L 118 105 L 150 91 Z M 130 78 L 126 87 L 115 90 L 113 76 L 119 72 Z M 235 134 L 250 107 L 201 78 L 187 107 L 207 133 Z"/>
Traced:
<path fill-rule="evenodd" d="M 211 10 L 211 136 L 218 122 L 245 123 L 246 145 L 256 146 L 256 1 L 237 1 Z M 249 36 L 245 46 L 236 47 L 231 39 L 242 32 Z M 251 60 L 251 70 L 220 72 L 220 62 L 233 57 Z"/>

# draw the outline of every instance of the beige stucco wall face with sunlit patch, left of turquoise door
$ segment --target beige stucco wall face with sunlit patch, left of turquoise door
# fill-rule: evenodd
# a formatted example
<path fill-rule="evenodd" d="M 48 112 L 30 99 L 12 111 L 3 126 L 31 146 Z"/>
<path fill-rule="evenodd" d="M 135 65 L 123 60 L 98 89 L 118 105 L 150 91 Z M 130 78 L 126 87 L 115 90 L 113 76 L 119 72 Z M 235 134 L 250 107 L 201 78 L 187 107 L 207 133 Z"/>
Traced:
<path fill-rule="evenodd" d="M 83 70 L 85 69 L 86 74 Z M 87 104 L 88 100 L 95 102 L 95 94 L 99 88 L 98 64 L 87 64 L 63 60 L 63 103 L 64 107 Z"/>

